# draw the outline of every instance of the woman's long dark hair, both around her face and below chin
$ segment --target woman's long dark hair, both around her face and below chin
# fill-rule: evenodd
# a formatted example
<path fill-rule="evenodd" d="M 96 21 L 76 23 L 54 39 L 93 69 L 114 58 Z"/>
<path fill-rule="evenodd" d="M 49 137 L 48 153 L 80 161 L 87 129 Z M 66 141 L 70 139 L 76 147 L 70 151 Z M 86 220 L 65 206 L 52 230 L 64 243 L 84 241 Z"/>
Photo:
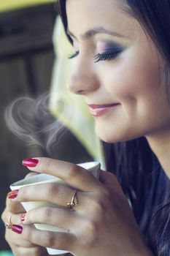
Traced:
<path fill-rule="evenodd" d="M 149 34 L 165 60 L 163 82 L 170 102 L 170 1 L 117 0 Z M 67 29 L 66 0 L 59 0 L 61 18 Z M 69 37 L 69 36 L 68 36 Z M 72 39 L 69 37 L 70 42 Z M 145 138 L 128 142 L 104 143 L 108 170 L 113 170 L 130 199 L 136 217 L 155 255 L 170 255 L 170 187 L 158 159 Z M 155 173 L 157 175 L 155 176 Z M 156 177 L 156 178 L 155 178 Z M 159 183 L 161 182 L 161 183 Z M 158 190 L 160 186 L 163 192 Z M 161 195 L 158 195 L 161 194 Z M 140 196 L 139 196 L 140 195 Z M 139 196 L 139 199 L 137 198 Z M 139 204 L 136 206 L 136 200 Z M 146 204 L 149 202 L 150 205 Z M 149 209 L 148 209 L 149 207 Z"/>

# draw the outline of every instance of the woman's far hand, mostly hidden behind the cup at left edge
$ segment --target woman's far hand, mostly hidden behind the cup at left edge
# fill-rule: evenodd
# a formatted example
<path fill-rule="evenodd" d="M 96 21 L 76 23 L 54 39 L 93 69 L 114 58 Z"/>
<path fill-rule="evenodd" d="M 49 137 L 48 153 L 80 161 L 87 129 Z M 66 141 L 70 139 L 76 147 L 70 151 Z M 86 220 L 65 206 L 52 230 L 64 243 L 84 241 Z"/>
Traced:
<path fill-rule="evenodd" d="M 15 223 L 17 225 L 20 225 L 22 223 L 20 220 L 20 217 L 22 214 L 25 214 L 25 213 L 26 211 L 24 210 L 23 206 L 21 206 L 20 203 L 13 200 L 9 200 L 7 198 L 6 208 L 4 209 L 4 212 L 1 215 L 1 219 L 4 221 L 4 224 L 9 222 L 9 219 L 10 219 L 11 224 Z M 31 228 L 34 229 L 34 225 L 31 225 Z M 48 255 L 47 250 L 45 248 L 43 248 L 42 246 L 37 246 L 33 243 L 30 243 L 30 241 L 27 241 L 25 238 L 18 236 L 18 234 L 12 232 L 12 230 L 7 227 L 5 231 L 5 238 L 7 240 L 7 243 L 12 249 L 13 255 L 15 256 L 27 256 L 27 255 L 28 256 L 30 255 L 46 256 Z"/>

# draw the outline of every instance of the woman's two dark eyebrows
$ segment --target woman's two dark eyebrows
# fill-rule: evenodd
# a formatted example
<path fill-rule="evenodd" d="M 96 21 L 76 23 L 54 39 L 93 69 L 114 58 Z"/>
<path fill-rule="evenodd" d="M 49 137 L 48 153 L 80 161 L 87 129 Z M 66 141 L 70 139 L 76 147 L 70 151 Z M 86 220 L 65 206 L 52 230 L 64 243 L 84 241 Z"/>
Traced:
<path fill-rule="evenodd" d="M 69 31 L 69 29 L 67 29 L 67 34 L 69 34 L 69 36 L 71 36 L 71 37 L 76 38 L 74 36 L 74 34 L 71 31 Z M 82 37 L 82 39 L 89 39 L 90 37 L 96 36 L 96 34 L 109 34 L 113 37 L 121 37 L 121 38 L 125 37 L 121 34 L 118 34 L 115 31 L 109 31 L 108 29 L 104 29 L 103 27 L 90 29 L 90 30 L 86 31 L 85 34 L 82 34 L 81 37 Z"/>

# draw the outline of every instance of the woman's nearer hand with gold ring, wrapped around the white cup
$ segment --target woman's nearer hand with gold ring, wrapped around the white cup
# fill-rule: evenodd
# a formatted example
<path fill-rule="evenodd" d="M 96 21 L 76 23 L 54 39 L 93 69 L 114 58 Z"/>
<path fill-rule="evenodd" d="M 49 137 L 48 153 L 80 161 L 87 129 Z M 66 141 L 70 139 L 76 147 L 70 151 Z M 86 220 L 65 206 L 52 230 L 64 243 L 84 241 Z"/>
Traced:
<path fill-rule="evenodd" d="M 75 256 L 152 255 L 114 175 L 101 171 L 98 181 L 82 167 L 47 158 L 39 158 L 36 167 L 29 169 L 62 178 L 70 187 L 39 184 L 38 188 L 32 185 L 20 189 L 15 202 L 43 200 L 56 205 L 28 211 L 21 238 Z M 75 189 L 78 205 L 71 211 L 66 204 L 72 200 Z M 32 223 L 55 225 L 67 232 L 36 230 Z"/>

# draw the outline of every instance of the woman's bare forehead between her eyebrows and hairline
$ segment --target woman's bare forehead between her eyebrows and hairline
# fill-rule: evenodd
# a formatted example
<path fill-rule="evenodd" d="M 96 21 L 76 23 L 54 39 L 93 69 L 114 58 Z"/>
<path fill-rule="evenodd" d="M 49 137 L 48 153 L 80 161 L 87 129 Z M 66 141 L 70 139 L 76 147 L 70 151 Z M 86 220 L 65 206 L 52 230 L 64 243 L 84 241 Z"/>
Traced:
<path fill-rule="evenodd" d="M 124 7 L 122 0 L 67 0 L 68 29 L 78 36 L 102 26 L 125 37 L 136 37 L 142 28 L 136 19 L 123 11 Z"/>

